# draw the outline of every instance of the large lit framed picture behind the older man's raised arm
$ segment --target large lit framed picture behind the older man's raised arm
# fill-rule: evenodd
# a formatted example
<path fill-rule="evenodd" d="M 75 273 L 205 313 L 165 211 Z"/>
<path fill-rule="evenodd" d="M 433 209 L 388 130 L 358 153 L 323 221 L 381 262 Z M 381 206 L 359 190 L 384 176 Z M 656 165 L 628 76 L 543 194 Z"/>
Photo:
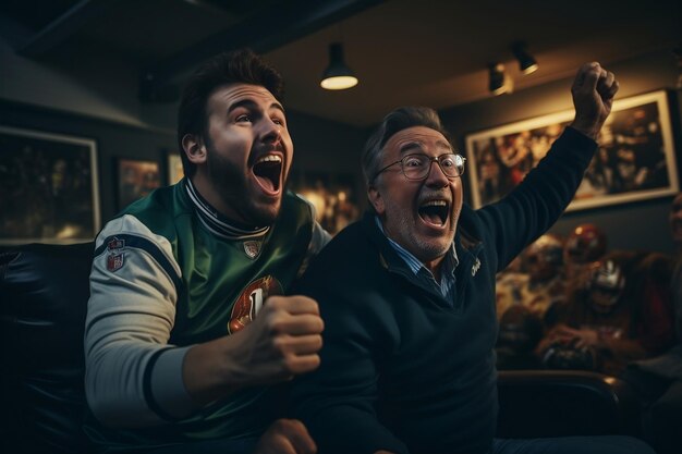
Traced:
<path fill-rule="evenodd" d="M 474 208 L 499 200 L 521 183 L 573 115 L 568 110 L 468 135 Z M 680 191 L 665 90 L 616 100 L 597 142 L 599 149 L 567 211 Z"/>

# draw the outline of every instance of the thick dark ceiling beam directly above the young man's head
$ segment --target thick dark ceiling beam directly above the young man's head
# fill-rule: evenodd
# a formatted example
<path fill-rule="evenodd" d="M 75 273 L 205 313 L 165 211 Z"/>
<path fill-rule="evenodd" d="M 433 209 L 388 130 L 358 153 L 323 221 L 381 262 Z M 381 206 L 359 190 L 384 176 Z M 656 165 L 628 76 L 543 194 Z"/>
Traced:
<path fill-rule="evenodd" d="M 243 47 L 264 53 L 325 26 L 350 17 L 385 0 L 282 1 L 245 21 L 143 70 L 139 98 L 173 98 L 173 86 L 209 57 Z"/>

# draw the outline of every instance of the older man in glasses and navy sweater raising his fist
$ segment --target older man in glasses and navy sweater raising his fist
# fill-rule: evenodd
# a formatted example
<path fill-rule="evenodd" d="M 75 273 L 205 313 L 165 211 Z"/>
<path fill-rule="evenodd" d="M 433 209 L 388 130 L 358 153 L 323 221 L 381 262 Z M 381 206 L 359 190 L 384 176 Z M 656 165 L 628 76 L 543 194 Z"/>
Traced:
<path fill-rule="evenodd" d="M 319 303 L 325 344 L 291 401 L 321 453 L 650 453 L 623 438 L 494 441 L 496 272 L 571 201 L 617 90 L 612 73 L 583 66 L 571 126 L 513 193 L 477 211 L 462 203 L 464 158 L 436 112 L 385 118 L 363 156 L 374 212 L 334 237 L 300 287 Z"/>

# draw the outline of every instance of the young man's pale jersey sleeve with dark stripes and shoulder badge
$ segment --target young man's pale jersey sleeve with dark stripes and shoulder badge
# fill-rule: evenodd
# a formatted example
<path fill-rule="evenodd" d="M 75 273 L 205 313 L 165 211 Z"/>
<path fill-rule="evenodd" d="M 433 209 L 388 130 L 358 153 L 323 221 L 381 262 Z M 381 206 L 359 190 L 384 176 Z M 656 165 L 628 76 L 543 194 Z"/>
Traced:
<path fill-rule="evenodd" d="M 179 282 L 170 243 L 136 218 L 115 219 L 97 237 L 85 391 L 105 426 L 154 426 L 196 409 L 182 380 L 188 347 L 168 344 Z"/>

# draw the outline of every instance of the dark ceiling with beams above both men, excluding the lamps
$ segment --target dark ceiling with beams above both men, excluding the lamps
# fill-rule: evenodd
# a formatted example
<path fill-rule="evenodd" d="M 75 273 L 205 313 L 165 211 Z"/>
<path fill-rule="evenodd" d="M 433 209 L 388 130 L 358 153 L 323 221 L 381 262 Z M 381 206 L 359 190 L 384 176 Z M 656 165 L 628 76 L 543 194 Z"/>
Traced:
<path fill-rule="evenodd" d="M 515 89 L 682 44 L 680 1 L 3 0 L 0 34 L 22 57 L 63 62 L 111 52 L 139 73 L 143 102 L 173 100 L 205 58 L 248 46 L 284 75 L 287 105 L 365 126 L 400 105 L 437 109 L 490 97 L 487 65 Z M 342 40 L 361 83 L 326 91 L 319 76 Z M 510 46 L 540 69 L 521 76 Z"/>

